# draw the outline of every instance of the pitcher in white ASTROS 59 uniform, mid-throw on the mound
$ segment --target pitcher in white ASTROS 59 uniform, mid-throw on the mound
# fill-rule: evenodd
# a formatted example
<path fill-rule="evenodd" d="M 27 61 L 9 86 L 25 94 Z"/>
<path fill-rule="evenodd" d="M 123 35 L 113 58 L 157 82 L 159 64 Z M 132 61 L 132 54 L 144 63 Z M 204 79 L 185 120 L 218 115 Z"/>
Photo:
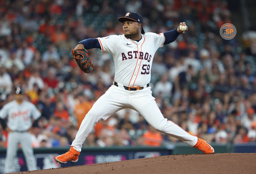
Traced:
<path fill-rule="evenodd" d="M 115 64 L 113 85 L 103 94 L 86 114 L 71 144 L 70 150 L 55 159 L 59 163 L 76 162 L 86 137 L 100 120 L 106 120 L 116 111 L 131 108 L 138 111 L 156 130 L 178 138 L 192 147 L 213 154 L 213 147 L 204 140 L 192 136 L 160 112 L 150 87 L 151 67 L 158 48 L 173 42 L 180 33 L 187 31 L 185 22 L 165 33 L 145 33 L 143 19 L 136 12 L 128 12 L 118 18 L 123 23 L 123 35 L 111 35 L 85 39 L 72 50 L 79 67 L 86 73 L 93 70 L 85 49 L 99 48 L 112 54 Z M 182 26 L 182 27 L 180 27 Z M 181 30 L 182 29 L 182 30 Z"/>

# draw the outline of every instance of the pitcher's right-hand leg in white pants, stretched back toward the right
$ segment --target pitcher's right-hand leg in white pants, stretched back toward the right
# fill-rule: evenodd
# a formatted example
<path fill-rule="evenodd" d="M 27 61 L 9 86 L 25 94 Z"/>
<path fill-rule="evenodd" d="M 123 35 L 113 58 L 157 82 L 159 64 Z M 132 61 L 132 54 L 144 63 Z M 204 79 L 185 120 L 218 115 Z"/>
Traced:
<path fill-rule="evenodd" d="M 139 97 L 132 99 L 131 105 L 146 119 L 146 121 L 152 125 L 159 132 L 170 135 L 181 141 L 187 143 L 190 146 L 194 146 L 197 143 L 197 137 L 190 135 L 180 126 L 172 121 L 168 121 L 163 118 L 161 111 L 159 110 L 154 98 L 151 93 L 145 97 Z M 135 96 L 135 95 L 134 95 Z"/>

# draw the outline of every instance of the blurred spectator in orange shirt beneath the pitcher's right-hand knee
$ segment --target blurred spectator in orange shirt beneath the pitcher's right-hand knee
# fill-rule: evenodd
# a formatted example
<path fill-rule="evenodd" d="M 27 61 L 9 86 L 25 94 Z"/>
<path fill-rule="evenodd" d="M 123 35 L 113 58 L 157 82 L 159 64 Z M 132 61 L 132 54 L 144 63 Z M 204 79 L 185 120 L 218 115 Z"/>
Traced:
<path fill-rule="evenodd" d="M 148 131 L 145 132 L 142 137 L 144 138 L 144 144 L 148 146 L 160 146 L 163 141 L 163 137 L 160 132 L 152 127 L 148 126 Z"/>

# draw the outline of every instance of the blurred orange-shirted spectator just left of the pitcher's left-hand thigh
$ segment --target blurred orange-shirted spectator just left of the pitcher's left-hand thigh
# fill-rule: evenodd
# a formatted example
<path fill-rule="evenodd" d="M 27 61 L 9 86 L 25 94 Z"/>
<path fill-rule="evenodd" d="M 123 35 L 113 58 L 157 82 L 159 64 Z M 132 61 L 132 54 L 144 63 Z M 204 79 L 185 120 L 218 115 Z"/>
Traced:
<path fill-rule="evenodd" d="M 79 93 L 77 96 L 79 103 L 75 106 L 74 114 L 77 119 L 77 129 L 79 129 L 85 115 L 91 109 L 91 103 L 86 100 L 83 93 Z"/>

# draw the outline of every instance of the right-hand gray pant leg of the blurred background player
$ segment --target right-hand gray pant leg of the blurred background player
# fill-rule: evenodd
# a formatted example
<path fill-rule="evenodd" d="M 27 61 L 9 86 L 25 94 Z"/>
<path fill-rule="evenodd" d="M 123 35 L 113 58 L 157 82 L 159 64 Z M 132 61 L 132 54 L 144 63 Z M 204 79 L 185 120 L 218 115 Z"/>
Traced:
<path fill-rule="evenodd" d="M 31 146 L 31 137 L 29 133 L 22 133 L 20 135 L 20 144 L 22 145 L 22 152 L 25 156 L 28 170 L 37 170 L 37 163 L 35 161 L 33 148 Z"/>

